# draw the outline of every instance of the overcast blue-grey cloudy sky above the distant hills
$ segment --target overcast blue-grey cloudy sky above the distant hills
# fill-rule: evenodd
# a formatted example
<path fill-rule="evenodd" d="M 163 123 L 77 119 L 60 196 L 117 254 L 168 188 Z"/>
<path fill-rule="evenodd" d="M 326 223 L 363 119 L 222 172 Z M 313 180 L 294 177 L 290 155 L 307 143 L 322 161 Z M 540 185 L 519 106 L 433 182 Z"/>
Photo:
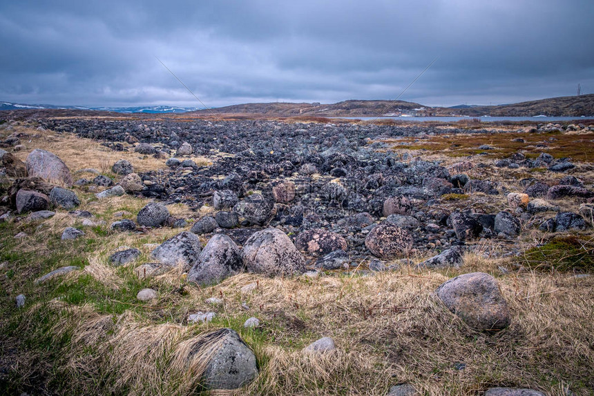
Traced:
<path fill-rule="evenodd" d="M 0 101 L 207 106 L 594 92 L 594 0 L 1 1 Z"/>

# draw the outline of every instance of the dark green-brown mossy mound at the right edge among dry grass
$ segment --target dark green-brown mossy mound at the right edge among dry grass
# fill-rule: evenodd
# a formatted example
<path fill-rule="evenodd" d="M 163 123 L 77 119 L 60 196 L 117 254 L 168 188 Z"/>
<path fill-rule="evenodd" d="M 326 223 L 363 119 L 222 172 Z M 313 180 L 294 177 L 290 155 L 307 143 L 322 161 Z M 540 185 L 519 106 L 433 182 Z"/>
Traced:
<path fill-rule="evenodd" d="M 575 236 L 551 239 L 526 251 L 520 264 L 538 270 L 594 270 L 594 244 Z"/>

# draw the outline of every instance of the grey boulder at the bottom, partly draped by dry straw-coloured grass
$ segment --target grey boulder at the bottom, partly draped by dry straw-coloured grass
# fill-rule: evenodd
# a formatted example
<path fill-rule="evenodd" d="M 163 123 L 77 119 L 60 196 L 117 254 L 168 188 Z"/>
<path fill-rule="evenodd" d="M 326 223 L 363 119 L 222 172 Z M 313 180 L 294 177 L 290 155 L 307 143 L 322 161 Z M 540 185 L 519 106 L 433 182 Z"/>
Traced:
<path fill-rule="evenodd" d="M 258 376 L 256 355 L 235 330 L 222 328 L 205 337 L 217 341 L 215 352 L 204 370 L 204 386 L 209 389 L 236 389 Z M 195 353 L 200 353 L 200 348 L 196 348 Z"/>

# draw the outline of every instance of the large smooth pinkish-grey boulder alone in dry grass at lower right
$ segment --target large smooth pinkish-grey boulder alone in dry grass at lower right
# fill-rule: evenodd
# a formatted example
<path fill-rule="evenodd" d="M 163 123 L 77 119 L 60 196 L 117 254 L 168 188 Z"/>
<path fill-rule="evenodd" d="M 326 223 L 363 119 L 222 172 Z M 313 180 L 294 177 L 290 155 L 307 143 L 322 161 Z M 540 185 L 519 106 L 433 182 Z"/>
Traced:
<path fill-rule="evenodd" d="M 472 328 L 501 330 L 510 325 L 507 301 L 491 275 L 459 275 L 441 284 L 436 294 L 452 313 Z"/>

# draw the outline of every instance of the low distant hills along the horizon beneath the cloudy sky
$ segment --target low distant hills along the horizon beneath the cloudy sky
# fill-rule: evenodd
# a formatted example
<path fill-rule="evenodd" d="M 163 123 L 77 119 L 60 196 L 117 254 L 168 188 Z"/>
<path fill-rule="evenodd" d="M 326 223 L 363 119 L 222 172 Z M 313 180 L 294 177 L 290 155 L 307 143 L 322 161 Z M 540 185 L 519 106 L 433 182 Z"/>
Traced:
<path fill-rule="evenodd" d="M 186 113 L 193 115 L 258 115 L 263 117 L 378 117 L 378 116 L 468 116 L 480 117 L 591 117 L 594 116 L 594 94 L 555 97 L 495 106 L 458 105 L 430 107 L 409 101 L 347 100 L 323 103 L 244 103 L 220 108 L 184 108 L 177 106 L 100 107 L 30 105 L 0 102 L 0 110 L 101 110 L 119 113 Z"/>

